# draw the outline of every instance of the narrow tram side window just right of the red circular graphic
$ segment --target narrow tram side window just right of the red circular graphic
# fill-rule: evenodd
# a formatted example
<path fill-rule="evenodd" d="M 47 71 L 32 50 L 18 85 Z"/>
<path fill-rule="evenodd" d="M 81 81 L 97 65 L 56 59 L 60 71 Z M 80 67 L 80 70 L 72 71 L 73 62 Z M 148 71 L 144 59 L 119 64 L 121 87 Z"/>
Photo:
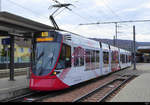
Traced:
<path fill-rule="evenodd" d="M 85 58 L 85 62 L 86 62 L 86 70 L 90 70 L 91 69 L 91 57 L 90 57 L 90 50 L 85 50 L 86 53 L 86 58 Z"/>

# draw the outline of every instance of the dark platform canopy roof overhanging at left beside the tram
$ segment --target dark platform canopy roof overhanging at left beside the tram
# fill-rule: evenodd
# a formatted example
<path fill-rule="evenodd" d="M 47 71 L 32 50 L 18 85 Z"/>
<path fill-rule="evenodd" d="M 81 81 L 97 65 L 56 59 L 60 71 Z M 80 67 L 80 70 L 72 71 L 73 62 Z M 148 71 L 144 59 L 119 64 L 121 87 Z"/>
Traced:
<path fill-rule="evenodd" d="M 52 29 L 54 28 L 51 26 L 17 16 L 12 13 L 0 12 L 0 34 L 4 34 L 6 32 L 12 35 L 18 34 L 30 37 L 27 33 L 48 31 Z"/>

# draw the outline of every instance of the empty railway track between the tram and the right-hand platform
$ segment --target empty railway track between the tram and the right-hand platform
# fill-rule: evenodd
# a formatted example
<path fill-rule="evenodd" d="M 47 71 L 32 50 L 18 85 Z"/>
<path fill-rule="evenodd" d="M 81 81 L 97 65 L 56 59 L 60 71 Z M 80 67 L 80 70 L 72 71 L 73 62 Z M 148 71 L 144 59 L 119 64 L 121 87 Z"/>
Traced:
<path fill-rule="evenodd" d="M 102 86 L 90 91 L 89 93 L 73 100 L 73 102 L 105 102 L 116 90 L 127 83 L 129 80 L 136 77 L 135 75 L 123 75 L 109 81 Z"/>

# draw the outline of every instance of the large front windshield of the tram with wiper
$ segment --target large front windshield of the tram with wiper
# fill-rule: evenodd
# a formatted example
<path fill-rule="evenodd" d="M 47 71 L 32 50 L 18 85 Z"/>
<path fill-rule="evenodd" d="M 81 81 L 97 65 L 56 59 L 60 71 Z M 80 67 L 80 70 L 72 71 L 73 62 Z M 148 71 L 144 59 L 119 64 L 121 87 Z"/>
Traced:
<path fill-rule="evenodd" d="M 46 76 L 54 68 L 59 56 L 60 42 L 40 42 L 36 44 L 35 63 L 32 72 L 36 76 Z"/>

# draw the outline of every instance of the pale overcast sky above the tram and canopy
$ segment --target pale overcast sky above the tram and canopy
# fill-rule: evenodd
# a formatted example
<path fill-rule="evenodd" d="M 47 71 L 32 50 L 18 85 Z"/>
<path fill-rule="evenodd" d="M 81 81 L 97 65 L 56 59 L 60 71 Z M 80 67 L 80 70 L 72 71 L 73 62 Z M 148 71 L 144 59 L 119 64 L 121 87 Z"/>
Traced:
<path fill-rule="evenodd" d="M 109 38 L 115 35 L 114 24 L 80 26 L 81 23 L 150 19 L 150 0 L 58 0 L 72 3 L 72 11 L 65 9 L 55 14 L 61 29 L 90 38 Z M 52 25 L 49 15 L 55 10 L 52 0 L 2 0 L 2 11 Z M 59 12 L 58 12 L 59 13 Z M 150 42 L 150 22 L 119 24 L 119 39 L 132 40 L 132 27 L 136 26 L 137 41 Z"/>

